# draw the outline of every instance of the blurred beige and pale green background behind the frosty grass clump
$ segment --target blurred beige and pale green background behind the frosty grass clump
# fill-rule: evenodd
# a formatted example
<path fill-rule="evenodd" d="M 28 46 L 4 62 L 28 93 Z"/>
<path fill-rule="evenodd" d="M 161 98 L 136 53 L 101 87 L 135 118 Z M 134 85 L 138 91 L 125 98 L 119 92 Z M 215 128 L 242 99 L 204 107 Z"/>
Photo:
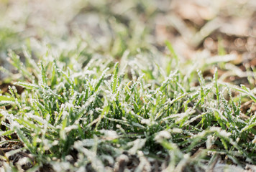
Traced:
<path fill-rule="evenodd" d="M 83 42 L 87 55 L 118 60 L 127 50 L 166 54 L 168 40 L 181 61 L 234 54 L 236 69 L 256 66 L 255 0 L 1 0 L 0 21 L 0 80 L 8 49 L 22 58 L 25 45 L 36 56 L 40 44 Z"/>

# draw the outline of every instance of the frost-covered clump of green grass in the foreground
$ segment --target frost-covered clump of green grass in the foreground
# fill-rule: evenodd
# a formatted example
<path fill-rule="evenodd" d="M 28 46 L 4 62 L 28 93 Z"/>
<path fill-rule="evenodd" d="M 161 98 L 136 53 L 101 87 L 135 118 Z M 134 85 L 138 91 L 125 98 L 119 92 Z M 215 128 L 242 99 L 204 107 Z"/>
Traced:
<path fill-rule="evenodd" d="M 81 51 L 56 56 L 48 47 L 35 62 L 24 49 L 25 65 L 9 53 L 21 75 L 14 84 L 25 90 L 9 87 L 0 96 L 0 145 L 12 147 L 1 154 L 4 170 L 206 171 L 216 161 L 255 163 L 255 114 L 240 112 L 242 98 L 256 100 L 252 90 L 223 85 L 217 70 L 210 80 L 184 72 L 177 58 L 161 57 L 161 68 L 145 64 L 143 53 L 114 62 Z"/>

